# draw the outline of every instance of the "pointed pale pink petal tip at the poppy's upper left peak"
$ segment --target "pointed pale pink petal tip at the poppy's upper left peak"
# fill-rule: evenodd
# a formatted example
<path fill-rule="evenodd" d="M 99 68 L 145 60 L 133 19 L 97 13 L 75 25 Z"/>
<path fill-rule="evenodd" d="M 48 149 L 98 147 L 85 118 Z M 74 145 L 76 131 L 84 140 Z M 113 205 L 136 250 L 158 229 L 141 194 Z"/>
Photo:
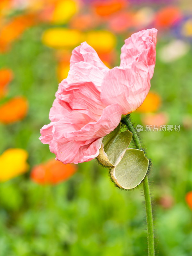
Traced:
<path fill-rule="evenodd" d="M 73 64 L 84 61 L 92 64 L 101 70 L 108 70 L 105 64 L 100 60 L 97 52 L 86 42 L 81 43 L 72 51 L 72 56 L 70 59 L 70 68 Z"/>

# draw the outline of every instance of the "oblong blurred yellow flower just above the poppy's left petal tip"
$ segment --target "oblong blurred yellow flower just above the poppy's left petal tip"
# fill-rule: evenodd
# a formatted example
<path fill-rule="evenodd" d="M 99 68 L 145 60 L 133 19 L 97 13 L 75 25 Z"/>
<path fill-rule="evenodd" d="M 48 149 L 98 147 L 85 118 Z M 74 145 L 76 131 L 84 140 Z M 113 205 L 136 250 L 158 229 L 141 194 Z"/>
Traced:
<path fill-rule="evenodd" d="M 42 36 L 42 42 L 53 48 L 72 48 L 83 41 L 84 36 L 81 31 L 68 28 L 49 28 Z"/>

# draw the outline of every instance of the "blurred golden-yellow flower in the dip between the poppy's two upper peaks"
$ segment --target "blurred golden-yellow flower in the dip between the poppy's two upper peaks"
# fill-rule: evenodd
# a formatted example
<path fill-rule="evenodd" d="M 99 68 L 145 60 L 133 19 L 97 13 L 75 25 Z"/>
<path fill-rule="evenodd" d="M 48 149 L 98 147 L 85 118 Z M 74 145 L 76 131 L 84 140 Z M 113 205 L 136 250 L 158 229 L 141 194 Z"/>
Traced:
<path fill-rule="evenodd" d="M 116 46 L 116 36 L 104 30 L 87 32 L 85 41 L 97 52 L 110 52 Z"/>

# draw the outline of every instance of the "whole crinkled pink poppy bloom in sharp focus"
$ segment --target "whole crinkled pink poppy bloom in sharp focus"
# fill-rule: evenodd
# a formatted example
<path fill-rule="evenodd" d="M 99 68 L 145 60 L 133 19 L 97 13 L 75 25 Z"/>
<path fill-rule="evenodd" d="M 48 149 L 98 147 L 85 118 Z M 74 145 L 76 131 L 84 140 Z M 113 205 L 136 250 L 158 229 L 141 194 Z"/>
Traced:
<path fill-rule="evenodd" d="M 76 47 L 68 77 L 60 84 L 50 110 L 51 123 L 40 140 L 64 164 L 90 161 L 99 155 L 102 139 L 136 110 L 150 88 L 156 57 L 155 28 L 125 40 L 120 67 L 107 68 L 86 42 Z"/>

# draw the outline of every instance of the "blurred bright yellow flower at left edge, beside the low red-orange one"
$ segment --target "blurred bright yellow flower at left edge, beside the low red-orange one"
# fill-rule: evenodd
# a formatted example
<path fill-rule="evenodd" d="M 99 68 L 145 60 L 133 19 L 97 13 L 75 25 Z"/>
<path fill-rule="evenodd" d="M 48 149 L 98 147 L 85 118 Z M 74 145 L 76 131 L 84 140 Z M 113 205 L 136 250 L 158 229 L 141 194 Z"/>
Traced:
<path fill-rule="evenodd" d="M 0 156 L 0 182 L 10 180 L 28 171 L 28 152 L 21 148 L 9 148 Z"/>

